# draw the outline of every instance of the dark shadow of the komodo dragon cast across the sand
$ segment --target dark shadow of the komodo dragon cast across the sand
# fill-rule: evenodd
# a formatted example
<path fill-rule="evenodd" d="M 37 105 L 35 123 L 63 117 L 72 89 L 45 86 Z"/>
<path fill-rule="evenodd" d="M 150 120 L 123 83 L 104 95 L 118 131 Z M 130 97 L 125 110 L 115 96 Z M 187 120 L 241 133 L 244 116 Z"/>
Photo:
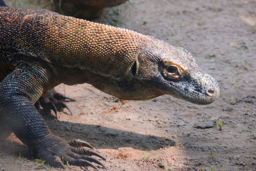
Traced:
<path fill-rule="evenodd" d="M 53 134 L 66 140 L 81 139 L 92 144 L 99 149 L 118 149 L 120 147 L 132 147 L 140 150 L 157 150 L 163 147 L 173 146 L 175 141 L 166 137 L 137 134 L 113 128 L 102 127 L 100 125 L 89 125 L 73 123 L 68 121 L 56 121 L 51 116 L 43 116 Z M 0 117 L 0 152 L 12 152 L 19 154 L 22 151 L 25 156 L 30 156 L 28 148 L 17 141 L 11 141 L 12 131 Z M 136 128 L 134 128 L 136 130 Z M 15 139 L 14 136 L 11 139 Z M 3 144 L 2 144 L 3 143 Z M 8 149 L 9 150 L 6 150 Z M 17 148 L 17 150 L 16 150 Z M 26 154 L 27 153 L 27 154 Z"/>

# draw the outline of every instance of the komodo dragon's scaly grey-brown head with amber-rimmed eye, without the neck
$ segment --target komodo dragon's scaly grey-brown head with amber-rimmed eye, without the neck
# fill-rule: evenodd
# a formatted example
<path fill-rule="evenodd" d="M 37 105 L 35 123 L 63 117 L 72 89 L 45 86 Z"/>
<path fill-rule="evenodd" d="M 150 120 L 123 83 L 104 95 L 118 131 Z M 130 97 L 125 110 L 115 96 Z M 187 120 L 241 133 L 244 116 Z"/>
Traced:
<path fill-rule="evenodd" d="M 157 92 L 155 96 L 167 94 L 200 105 L 210 104 L 220 96 L 218 82 L 197 66 L 188 51 L 153 37 L 146 42 L 132 66 L 132 74 Z"/>

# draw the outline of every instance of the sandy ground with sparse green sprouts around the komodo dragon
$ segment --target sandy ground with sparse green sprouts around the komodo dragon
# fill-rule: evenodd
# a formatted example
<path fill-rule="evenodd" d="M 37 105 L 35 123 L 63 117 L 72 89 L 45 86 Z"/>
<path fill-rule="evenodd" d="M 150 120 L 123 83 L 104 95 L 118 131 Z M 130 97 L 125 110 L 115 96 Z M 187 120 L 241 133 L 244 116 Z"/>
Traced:
<path fill-rule="evenodd" d="M 8 3 L 50 8 L 42 1 Z M 219 82 L 220 98 L 210 105 L 170 96 L 120 102 L 89 84 L 61 84 L 56 89 L 76 102 L 68 102 L 74 115 L 60 113 L 60 122 L 42 112 L 55 135 L 91 143 L 111 171 L 164 170 L 159 161 L 166 170 L 256 170 L 255 0 L 130 0 L 98 21 L 184 47 Z M 0 170 L 60 170 L 37 163 L 2 120 Z M 211 120 L 223 120 L 222 130 L 194 126 Z"/>

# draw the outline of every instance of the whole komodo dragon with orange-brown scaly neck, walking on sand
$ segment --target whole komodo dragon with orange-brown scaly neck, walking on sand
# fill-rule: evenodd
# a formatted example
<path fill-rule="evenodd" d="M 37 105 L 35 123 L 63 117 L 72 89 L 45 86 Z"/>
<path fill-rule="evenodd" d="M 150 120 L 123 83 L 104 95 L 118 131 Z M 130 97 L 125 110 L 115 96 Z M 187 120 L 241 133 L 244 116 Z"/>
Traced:
<path fill-rule="evenodd" d="M 168 94 L 205 105 L 220 95 L 218 83 L 183 48 L 44 9 L 9 8 L 3 0 L 0 5 L 0 114 L 52 166 L 65 168 L 63 158 L 71 165 L 106 168 L 91 156 L 105 157 L 82 148 L 92 148 L 89 143 L 53 135 L 35 107 L 40 97 L 50 109 L 66 107 L 66 96 L 52 90 L 60 83 L 86 82 L 127 100 Z"/>

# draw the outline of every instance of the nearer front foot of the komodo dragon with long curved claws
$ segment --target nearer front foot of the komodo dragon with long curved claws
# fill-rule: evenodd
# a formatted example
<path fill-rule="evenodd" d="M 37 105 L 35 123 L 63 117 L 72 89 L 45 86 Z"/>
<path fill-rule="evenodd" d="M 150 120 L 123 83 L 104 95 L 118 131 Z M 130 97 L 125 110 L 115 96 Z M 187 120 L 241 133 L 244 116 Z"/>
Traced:
<path fill-rule="evenodd" d="M 98 167 L 93 164 L 96 163 L 107 169 L 99 159 L 91 157 L 93 155 L 106 160 L 104 156 L 84 147 L 92 148 L 92 145 L 78 139 L 67 143 L 60 137 L 51 134 L 43 140 L 40 140 L 38 144 L 35 145 L 35 150 L 39 159 L 55 167 L 65 169 L 65 163 L 76 166 L 90 166 L 99 171 Z"/>

